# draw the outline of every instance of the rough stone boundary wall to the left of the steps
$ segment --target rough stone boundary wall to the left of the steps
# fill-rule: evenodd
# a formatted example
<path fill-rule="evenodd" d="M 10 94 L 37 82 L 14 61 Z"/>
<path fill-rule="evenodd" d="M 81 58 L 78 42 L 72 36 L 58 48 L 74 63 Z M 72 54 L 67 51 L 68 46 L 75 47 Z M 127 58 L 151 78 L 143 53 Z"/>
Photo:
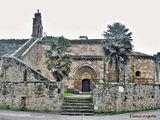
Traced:
<path fill-rule="evenodd" d="M 0 107 L 60 111 L 63 84 L 53 82 L 0 82 Z"/>

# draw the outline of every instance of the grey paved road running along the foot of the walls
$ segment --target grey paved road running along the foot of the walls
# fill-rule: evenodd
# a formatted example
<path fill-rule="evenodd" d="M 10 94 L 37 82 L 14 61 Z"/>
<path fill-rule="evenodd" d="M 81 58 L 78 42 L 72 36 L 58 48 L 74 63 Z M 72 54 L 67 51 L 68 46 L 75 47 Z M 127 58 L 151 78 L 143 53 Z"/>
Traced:
<path fill-rule="evenodd" d="M 160 120 L 160 110 L 107 116 L 67 116 L 58 113 L 0 110 L 0 120 Z"/>

